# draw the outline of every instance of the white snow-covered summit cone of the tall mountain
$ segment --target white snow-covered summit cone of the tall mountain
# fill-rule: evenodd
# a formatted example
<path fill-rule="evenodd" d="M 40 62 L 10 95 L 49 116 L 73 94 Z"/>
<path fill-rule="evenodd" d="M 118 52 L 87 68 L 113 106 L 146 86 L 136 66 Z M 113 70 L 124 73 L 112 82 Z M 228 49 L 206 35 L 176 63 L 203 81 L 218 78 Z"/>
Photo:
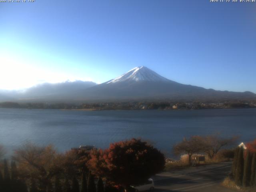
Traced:
<path fill-rule="evenodd" d="M 127 73 L 122 74 L 121 76 L 114 78 L 114 79 L 106 82 L 105 84 L 124 82 L 124 81 L 126 81 L 126 82 L 130 82 L 130 81 L 166 82 L 166 81 L 170 81 L 170 80 L 160 76 L 159 74 L 150 70 L 147 67 L 140 66 L 140 67 L 133 68 L 132 70 L 128 71 Z"/>

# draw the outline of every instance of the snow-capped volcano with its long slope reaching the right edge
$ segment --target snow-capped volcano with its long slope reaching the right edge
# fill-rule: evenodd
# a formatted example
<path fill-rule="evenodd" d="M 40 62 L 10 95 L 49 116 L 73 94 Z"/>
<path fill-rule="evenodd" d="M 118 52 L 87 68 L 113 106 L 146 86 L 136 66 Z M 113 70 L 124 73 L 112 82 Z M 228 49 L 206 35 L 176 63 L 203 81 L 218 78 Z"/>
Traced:
<path fill-rule="evenodd" d="M 86 100 L 219 100 L 256 98 L 252 92 L 228 92 L 180 84 L 145 66 L 84 90 Z"/>

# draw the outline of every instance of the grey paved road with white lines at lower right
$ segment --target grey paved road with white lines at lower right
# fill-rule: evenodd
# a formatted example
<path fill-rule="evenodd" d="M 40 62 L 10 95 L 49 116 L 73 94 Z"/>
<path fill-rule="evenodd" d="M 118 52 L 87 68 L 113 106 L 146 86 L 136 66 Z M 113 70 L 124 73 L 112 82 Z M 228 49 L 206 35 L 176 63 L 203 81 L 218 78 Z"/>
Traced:
<path fill-rule="evenodd" d="M 231 162 L 162 172 L 153 177 L 155 192 L 235 192 L 220 185 Z"/>

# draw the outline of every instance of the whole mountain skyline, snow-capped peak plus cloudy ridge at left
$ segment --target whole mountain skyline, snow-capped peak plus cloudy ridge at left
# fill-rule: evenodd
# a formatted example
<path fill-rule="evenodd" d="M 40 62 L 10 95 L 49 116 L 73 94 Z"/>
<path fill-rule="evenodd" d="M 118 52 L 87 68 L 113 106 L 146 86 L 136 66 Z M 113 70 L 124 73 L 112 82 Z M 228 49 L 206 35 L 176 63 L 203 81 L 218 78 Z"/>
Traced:
<path fill-rule="evenodd" d="M 6 94 L 8 93 L 8 94 Z M 0 101 L 98 102 L 120 100 L 250 100 L 252 92 L 229 92 L 205 89 L 168 80 L 145 66 L 133 68 L 117 78 L 94 82 L 40 84 L 25 92 L 0 91 Z"/>

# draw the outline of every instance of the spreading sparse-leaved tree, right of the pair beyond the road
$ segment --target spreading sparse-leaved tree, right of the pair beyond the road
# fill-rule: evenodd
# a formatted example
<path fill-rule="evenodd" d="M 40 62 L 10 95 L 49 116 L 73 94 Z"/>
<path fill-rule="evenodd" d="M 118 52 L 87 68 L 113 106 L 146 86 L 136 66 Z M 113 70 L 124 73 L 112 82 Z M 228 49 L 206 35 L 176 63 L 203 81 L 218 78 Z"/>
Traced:
<path fill-rule="evenodd" d="M 220 137 L 220 134 L 214 134 L 206 137 L 200 137 L 200 139 L 202 140 L 202 151 L 205 152 L 210 159 L 212 159 L 221 148 L 234 144 L 238 139 L 238 136 L 222 138 Z"/>

